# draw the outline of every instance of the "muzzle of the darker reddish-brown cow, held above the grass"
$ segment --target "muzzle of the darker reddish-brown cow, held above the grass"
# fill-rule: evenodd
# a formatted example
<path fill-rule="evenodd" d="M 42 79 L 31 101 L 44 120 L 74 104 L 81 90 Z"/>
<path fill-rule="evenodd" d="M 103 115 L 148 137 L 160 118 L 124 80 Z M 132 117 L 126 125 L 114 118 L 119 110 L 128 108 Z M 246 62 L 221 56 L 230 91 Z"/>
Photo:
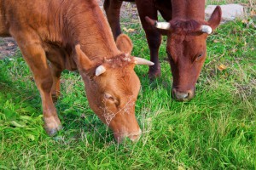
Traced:
<path fill-rule="evenodd" d="M 179 91 L 177 88 L 172 88 L 172 98 L 177 101 L 189 101 L 195 96 L 195 90 Z"/>

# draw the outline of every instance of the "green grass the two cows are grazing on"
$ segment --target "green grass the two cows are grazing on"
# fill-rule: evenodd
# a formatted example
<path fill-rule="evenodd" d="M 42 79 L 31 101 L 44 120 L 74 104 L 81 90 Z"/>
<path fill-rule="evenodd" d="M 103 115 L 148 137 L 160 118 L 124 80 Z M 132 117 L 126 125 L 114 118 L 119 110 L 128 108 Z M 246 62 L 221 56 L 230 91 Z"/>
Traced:
<path fill-rule="evenodd" d="M 133 24 L 133 54 L 148 59 L 144 32 Z M 241 21 L 207 39 L 207 60 L 190 102 L 171 98 L 172 74 L 160 48 L 162 77 L 142 82 L 136 114 L 143 129 L 132 144 L 116 144 L 90 110 L 76 72 L 64 71 L 56 102 L 64 129 L 44 132 L 41 100 L 24 59 L 0 60 L 0 169 L 255 169 L 256 31 Z M 218 71 L 218 65 L 227 66 Z"/>

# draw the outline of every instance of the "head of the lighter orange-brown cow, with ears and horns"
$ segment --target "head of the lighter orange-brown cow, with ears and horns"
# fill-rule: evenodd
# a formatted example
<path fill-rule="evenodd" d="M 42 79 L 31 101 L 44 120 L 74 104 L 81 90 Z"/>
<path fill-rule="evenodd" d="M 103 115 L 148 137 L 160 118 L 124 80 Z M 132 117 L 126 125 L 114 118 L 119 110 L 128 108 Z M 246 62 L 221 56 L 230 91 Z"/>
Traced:
<path fill-rule="evenodd" d="M 76 63 L 84 80 L 90 108 L 113 130 L 118 142 L 125 137 L 134 141 L 141 134 L 135 116 L 135 102 L 141 85 L 133 69 L 137 64 L 154 63 L 131 56 L 129 37 L 120 35 L 116 43 L 125 53 L 101 63 L 90 60 L 76 45 Z"/>

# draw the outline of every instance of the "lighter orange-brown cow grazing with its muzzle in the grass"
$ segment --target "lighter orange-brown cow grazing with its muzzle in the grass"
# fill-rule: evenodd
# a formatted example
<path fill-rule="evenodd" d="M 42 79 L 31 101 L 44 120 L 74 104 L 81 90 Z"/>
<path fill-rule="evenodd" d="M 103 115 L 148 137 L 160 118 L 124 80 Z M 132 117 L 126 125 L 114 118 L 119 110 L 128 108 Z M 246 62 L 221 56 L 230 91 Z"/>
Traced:
<path fill-rule="evenodd" d="M 33 73 L 49 135 L 61 129 L 51 96 L 60 94 L 61 71 L 78 69 L 91 109 L 115 139 L 138 139 L 140 81 L 133 69 L 154 63 L 131 56 L 129 37 L 114 42 L 95 0 L 0 0 L 0 13 L 0 36 L 15 38 Z"/>

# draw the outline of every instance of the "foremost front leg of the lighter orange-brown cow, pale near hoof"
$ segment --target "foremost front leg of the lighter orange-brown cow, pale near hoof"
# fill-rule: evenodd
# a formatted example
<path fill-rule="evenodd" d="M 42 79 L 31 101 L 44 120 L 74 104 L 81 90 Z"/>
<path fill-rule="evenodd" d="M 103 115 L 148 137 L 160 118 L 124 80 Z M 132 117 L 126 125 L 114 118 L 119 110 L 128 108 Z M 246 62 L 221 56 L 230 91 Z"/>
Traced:
<path fill-rule="evenodd" d="M 51 98 L 50 91 L 53 85 L 53 78 L 49 70 L 44 48 L 34 37 L 27 36 L 25 40 L 21 40 L 20 37 L 15 39 L 19 44 L 27 65 L 29 65 L 33 73 L 34 80 L 41 94 L 45 131 L 52 136 L 61 129 L 61 122 Z"/>

